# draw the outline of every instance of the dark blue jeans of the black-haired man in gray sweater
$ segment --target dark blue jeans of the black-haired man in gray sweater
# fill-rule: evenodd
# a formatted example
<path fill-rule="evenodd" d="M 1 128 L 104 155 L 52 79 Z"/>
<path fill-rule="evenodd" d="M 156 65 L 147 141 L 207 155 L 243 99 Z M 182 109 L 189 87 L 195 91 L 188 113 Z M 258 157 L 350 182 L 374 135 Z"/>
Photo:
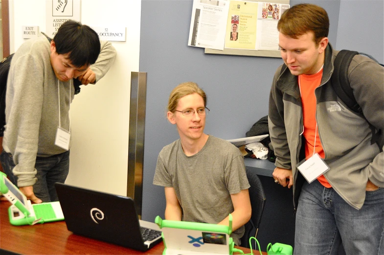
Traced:
<path fill-rule="evenodd" d="M 15 167 L 13 156 L 4 150 L 0 154 L 1 166 L 8 179 L 17 185 L 17 176 L 12 172 Z M 49 157 L 36 157 L 37 181 L 33 185 L 35 196 L 43 202 L 59 201 L 55 183 L 64 183 L 69 172 L 69 151 Z"/>

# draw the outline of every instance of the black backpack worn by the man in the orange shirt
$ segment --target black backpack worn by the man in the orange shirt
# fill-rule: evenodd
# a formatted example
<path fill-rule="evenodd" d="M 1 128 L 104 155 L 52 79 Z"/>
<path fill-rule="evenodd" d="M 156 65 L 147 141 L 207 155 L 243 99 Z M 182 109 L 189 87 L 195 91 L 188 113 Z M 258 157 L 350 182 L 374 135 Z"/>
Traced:
<path fill-rule="evenodd" d="M 380 64 L 371 55 L 368 55 L 362 52 L 343 49 L 339 51 L 338 55 L 335 58 L 334 72 L 331 76 L 331 84 L 336 94 L 346 104 L 346 106 L 349 109 L 351 109 L 356 113 L 362 114 L 362 109 L 356 101 L 355 95 L 353 94 L 352 88 L 348 80 L 349 65 L 351 64 L 352 58 L 357 54 L 365 55 L 370 59 L 374 60 L 378 65 L 384 67 L 383 64 Z M 283 64 L 280 74 L 283 73 L 285 68 L 286 68 L 286 65 Z M 369 123 L 368 120 L 367 122 L 372 131 L 371 144 L 374 144 L 376 142 L 379 145 L 380 151 L 383 151 L 383 145 L 384 145 L 383 131 L 381 129 L 377 129 L 376 127 L 374 127 L 371 123 Z"/>

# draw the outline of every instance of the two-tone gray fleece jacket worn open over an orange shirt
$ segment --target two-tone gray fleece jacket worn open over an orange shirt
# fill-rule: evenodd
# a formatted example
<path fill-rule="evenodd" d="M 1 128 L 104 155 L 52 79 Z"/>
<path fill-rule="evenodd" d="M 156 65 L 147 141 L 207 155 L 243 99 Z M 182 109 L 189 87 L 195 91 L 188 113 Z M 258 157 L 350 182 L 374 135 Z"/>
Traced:
<path fill-rule="evenodd" d="M 371 144 L 372 132 L 366 120 L 384 129 L 384 68 L 363 56 L 356 55 L 348 68 L 348 79 L 363 114 L 348 109 L 335 93 L 330 77 L 339 51 L 330 45 L 325 50 L 321 84 L 315 90 L 316 121 L 324 161 L 330 170 L 324 174 L 338 194 L 352 207 L 360 209 L 365 200 L 368 179 L 384 187 L 384 153 Z M 276 71 L 270 94 L 269 129 L 277 167 L 292 169 L 294 176 L 294 207 L 301 186 L 297 185 L 300 149 L 304 138 L 303 112 L 297 76 L 290 70 Z"/>

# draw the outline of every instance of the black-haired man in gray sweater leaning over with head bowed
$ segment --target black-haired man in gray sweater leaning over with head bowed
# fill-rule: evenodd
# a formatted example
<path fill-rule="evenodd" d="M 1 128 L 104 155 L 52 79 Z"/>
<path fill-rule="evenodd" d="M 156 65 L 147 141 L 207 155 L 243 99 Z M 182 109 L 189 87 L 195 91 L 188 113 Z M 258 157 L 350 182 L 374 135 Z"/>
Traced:
<path fill-rule="evenodd" d="M 115 55 L 111 43 L 75 21 L 63 23 L 51 42 L 40 35 L 16 51 L 8 74 L 0 160 L 31 201 L 57 201 L 54 183 L 68 176 L 72 79 L 96 83 Z"/>

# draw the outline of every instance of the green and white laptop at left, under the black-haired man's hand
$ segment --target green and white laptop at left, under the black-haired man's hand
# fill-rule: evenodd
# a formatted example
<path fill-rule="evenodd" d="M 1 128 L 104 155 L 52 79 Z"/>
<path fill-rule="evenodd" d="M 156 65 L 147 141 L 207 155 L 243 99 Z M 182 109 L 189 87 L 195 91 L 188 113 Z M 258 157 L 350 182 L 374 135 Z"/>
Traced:
<path fill-rule="evenodd" d="M 0 192 L 13 204 L 8 209 L 9 221 L 12 225 L 33 225 L 64 220 L 60 202 L 32 205 L 31 201 L 2 172 L 0 172 Z"/>

